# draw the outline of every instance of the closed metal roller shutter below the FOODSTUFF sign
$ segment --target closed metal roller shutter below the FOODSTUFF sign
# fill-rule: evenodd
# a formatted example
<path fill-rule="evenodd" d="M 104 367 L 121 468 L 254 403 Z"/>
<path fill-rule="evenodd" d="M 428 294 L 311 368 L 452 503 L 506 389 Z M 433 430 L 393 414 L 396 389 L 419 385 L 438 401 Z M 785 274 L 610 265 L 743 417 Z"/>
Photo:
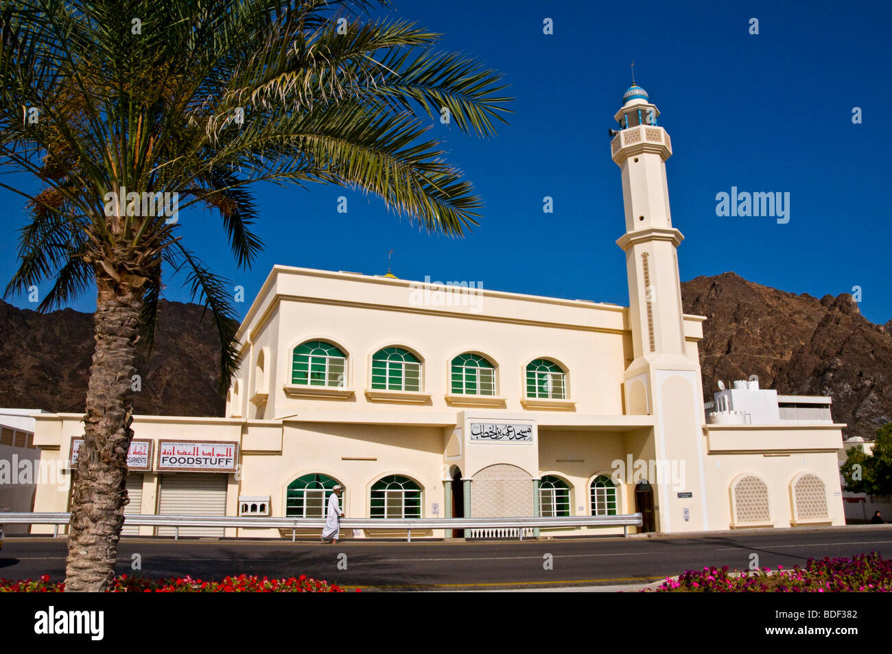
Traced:
<path fill-rule="evenodd" d="M 161 475 L 159 515 L 225 516 L 227 475 L 180 473 Z M 158 535 L 172 536 L 172 526 L 158 527 Z M 222 536 L 223 527 L 180 527 L 181 536 Z"/>

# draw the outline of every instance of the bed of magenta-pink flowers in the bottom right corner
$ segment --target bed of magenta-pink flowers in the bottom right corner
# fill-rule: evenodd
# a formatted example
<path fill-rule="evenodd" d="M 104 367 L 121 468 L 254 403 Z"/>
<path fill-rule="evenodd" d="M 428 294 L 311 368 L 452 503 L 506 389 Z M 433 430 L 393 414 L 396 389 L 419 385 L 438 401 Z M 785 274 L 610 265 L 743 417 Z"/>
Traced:
<path fill-rule="evenodd" d="M 871 551 L 852 559 L 808 559 L 805 567 L 786 570 L 704 567 L 666 579 L 651 592 L 892 592 L 892 560 Z"/>

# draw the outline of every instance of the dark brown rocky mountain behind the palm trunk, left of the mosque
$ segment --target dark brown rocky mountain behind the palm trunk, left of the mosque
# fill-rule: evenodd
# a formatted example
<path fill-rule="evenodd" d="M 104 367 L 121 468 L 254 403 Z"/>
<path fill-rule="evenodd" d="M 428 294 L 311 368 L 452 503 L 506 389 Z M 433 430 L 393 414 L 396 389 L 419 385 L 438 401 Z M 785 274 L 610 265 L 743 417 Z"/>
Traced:
<path fill-rule="evenodd" d="M 91 314 L 41 314 L 0 301 L 0 406 L 83 411 L 92 360 Z M 223 415 L 219 338 L 197 304 L 161 302 L 153 354 L 136 369 L 135 413 Z"/>

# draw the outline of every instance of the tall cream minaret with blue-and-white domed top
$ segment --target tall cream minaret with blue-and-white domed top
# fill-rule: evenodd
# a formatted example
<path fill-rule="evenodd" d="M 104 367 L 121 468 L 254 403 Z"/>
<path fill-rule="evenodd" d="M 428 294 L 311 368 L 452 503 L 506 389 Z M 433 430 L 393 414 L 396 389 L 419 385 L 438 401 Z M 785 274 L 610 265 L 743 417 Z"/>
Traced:
<path fill-rule="evenodd" d="M 669 211 L 665 161 L 672 144 L 657 125 L 659 115 L 647 92 L 632 82 L 614 117 L 619 129 L 610 130 L 623 178 L 625 234 L 616 244 L 625 252 L 632 333 L 625 410 L 654 417 L 650 435 L 632 455 L 655 463 L 648 482 L 656 493 L 657 529 L 683 532 L 708 528 L 706 416 L 696 341 L 690 347 L 685 342 L 675 253 L 683 236 Z M 692 324 L 693 337 L 698 327 Z"/>

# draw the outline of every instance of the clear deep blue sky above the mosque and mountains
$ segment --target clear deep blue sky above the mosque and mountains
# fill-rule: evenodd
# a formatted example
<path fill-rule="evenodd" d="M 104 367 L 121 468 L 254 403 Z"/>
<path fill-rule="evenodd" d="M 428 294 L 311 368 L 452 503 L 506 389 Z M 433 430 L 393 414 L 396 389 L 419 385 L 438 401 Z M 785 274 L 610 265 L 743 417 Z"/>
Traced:
<path fill-rule="evenodd" d="M 863 315 L 892 319 L 888 3 L 394 4 L 393 16 L 442 32 L 442 49 L 504 72 L 516 97 L 510 125 L 494 139 L 434 125 L 450 162 L 483 198 L 481 225 L 463 239 L 430 236 L 375 197 L 335 186 L 258 186 L 256 228 L 266 249 L 245 272 L 217 217 L 185 213 L 186 244 L 244 286 L 241 315 L 274 264 L 381 274 L 390 250 L 398 277 L 627 304 L 615 244 L 624 232 L 622 186 L 607 128 L 634 60 L 673 140 L 666 170 L 673 225 L 685 236 L 681 279 L 732 270 L 817 297 L 860 286 Z M 546 17 L 550 36 L 542 33 Z M 757 36 L 748 33 L 754 17 Z M 862 124 L 852 122 L 854 107 Z M 789 223 L 717 217 L 715 195 L 731 186 L 789 192 Z M 340 195 L 346 214 L 336 211 Z M 551 214 L 542 211 L 545 195 L 554 199 Z M 25 216 L 20 197 L 0 191 L 0 201 L 5 285 Z M 181 282 L 167 279 L 168 299 L 189 300 Z M 72 306 L 93 310 L 95 298 Z"/>

